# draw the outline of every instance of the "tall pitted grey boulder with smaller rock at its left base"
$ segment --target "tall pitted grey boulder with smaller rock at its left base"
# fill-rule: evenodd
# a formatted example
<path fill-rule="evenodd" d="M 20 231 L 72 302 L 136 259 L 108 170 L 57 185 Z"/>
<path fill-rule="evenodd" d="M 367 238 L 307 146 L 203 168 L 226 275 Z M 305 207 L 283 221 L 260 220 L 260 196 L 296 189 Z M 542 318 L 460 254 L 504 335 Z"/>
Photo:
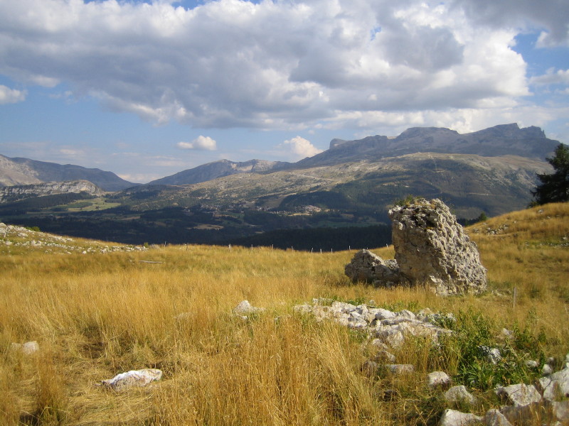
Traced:
<path fill-rule="evenodd" d="M 374 285 L 426 284 L 439 295 L 478 294 L 486 290 L 486 268 L 450 209 L 435 199 L 415 200 L 389 211 L 395 261 L 359 251 L 346 265 L 353 281 Z"/>

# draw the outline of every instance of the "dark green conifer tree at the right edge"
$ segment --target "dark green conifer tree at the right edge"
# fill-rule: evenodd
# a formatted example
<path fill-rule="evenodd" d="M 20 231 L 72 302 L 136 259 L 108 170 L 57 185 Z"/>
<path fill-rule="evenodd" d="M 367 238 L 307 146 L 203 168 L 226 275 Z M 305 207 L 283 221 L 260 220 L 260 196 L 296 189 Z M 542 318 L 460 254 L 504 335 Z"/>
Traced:
<path fill-rule="evenodd" d="M 560 143 L 555 148 L 555 155 L 546 158 L 553 165 L 553 173 L 538 173 L 541 184 L 532 191 L 536 204 L 569 201 L 569 146 Z"/>

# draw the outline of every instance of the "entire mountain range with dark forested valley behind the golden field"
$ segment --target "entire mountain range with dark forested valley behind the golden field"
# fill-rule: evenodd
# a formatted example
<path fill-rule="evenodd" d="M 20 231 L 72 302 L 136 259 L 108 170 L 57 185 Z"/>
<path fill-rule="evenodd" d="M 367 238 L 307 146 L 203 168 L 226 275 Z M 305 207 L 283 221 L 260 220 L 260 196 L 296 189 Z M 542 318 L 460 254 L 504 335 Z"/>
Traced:
<path fill-rule="evenodd" d="M 11 191 L 11 202 L 0 203 L 0 217 L 109 241 L 209 244 L 249 244 L 282 229 L 386 226 L 388 207 L 407 195 L 438 197 L 457 217 L 472 219 L 526 207 L 536 173 L 551 171 L 545 158 L 558 144 L 538 127 L 517 124 L 465 134 L 412 128 L 395 138 L 334 139 L 328 150 L 297 163 L 220 160 L 144 185 L 98 169 L 0 157 L 0 182 L 56 180 L 73 170 L 80 172 L 77 179 L 110 191 L 63 197 L 46 196 L 44 188 L 37 201 L 30 187 L 26 200 L 17 201 L 18 191 Z M 42 171 L 46 164 L 51 174 Z M 105 180 L 95 182 L 101 176 Z"/>

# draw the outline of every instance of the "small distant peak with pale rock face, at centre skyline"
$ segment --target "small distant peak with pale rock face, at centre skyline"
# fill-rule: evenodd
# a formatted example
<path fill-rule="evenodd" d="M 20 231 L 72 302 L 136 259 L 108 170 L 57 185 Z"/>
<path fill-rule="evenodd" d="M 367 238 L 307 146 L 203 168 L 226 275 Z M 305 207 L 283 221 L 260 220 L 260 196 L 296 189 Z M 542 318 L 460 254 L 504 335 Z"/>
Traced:
<path fill-rule="evenodd" d="M 230 160 L 219 160 L 213 163 L 198 165 L 196 168 L 188 169 L 149 182 L 149 185 L 188 185 L 192 183 L 206 182 L 224 176 L 236 175 L 238 173 L 258 173 L 272 170 L 277 166 L 286 165 L 280 161 L 249 160 L 235 163 Z"/>

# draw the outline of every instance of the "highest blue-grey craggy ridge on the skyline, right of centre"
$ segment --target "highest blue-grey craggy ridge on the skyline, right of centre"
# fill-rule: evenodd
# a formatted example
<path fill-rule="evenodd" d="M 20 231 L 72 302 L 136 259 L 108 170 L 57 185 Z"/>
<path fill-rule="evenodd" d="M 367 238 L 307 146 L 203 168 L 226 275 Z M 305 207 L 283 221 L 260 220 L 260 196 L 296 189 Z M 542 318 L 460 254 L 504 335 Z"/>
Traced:
<path fill-rule="evenodd" d="M 297 168 L 334 165 L 359 160 L 380 160 L 413 153 L 476 154 L 484 157 L 518 155 L 543 160 L 551 155 L 558 141 L 546 138 L 535 126 L 520 129 L 517 124 L 502 124 L 473 133 L 437 127 L 413 127 L 396 138 L 368 136 L 356 141 L 333 139 L 330 148 L 295 163 Z"/>

